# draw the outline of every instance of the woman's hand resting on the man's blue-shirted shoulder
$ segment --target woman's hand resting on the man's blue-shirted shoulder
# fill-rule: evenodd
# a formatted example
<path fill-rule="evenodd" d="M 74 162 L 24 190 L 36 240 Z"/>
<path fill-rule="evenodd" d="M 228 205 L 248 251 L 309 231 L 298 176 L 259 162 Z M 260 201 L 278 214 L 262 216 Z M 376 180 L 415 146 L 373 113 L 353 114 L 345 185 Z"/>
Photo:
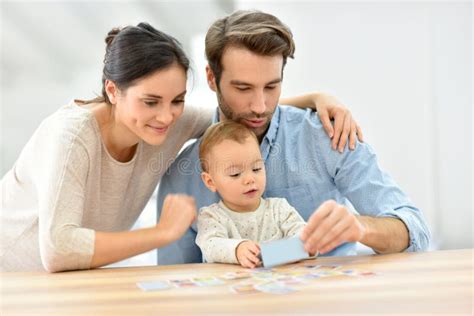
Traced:
<path fill-rule="evenodd" d="M 362 130 L 348 108 L 327 94 L 318 93 L 314 98 L 321 123 L 332 139 L 332 149 L 338 148 L 342 153 L 347 143 L 347 137 L 349 137 L 349 149 L 351 150 L 355 149 L 356 137 L 360 142 L 364 141 Z M 331 124 L 331 119 L 334 119 L 334 127 Z"/>

